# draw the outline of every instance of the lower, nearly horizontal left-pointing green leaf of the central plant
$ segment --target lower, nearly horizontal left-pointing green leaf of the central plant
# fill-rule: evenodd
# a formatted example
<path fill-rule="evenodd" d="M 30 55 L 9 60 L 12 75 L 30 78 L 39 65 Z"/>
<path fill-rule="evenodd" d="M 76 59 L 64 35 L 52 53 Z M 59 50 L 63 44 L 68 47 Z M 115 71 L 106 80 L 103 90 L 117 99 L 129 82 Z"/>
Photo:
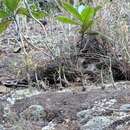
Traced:
<path fill-rule="evenodd" d="M 72 19 L 64 17 L 64 16 L 58 16 L 57 20 L 62 22 L 62 23 L 73 24 L 73 25 L 80 25 L 80 23 L 76 22 L 75 20 L 72 20 Z"/>

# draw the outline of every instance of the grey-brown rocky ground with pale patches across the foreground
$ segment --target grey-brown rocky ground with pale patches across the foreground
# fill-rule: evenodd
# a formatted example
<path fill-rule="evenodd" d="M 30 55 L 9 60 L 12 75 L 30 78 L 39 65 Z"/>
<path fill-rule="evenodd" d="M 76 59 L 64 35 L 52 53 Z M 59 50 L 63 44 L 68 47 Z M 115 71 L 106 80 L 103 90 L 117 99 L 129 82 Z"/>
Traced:
<path fill-rule="evenodd" d="M 129 91 L 16 90 L 0 98 L 0 130 L 129 130 Z"/>

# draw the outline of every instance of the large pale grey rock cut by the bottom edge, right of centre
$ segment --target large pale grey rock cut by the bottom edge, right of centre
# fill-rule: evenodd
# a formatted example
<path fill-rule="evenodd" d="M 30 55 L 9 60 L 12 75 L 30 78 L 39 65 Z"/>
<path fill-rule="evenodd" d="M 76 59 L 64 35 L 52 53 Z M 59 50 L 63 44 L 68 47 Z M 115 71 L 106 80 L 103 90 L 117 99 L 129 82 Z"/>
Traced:
<path fill-rule="evenodd" d="M 109 126 L 113 121 L 105 116 L 96 116 L 81 127 L 81 130 L 103 130 Z"/>

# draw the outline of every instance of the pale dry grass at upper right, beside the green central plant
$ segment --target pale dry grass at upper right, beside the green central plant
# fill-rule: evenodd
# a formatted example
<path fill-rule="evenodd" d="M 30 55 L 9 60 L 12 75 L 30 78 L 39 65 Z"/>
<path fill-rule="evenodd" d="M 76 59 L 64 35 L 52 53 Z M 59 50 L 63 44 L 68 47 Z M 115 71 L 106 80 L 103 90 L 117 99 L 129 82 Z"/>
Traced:
<path fill-rule="evenodd" d="M 93 0 L 94 4 L 102 5 L 97 22 L 97 28 L 109 37 L 117 54 L 127 60 L 129 56 L 129 20 L 130 2 L 128 0 Z"/>

